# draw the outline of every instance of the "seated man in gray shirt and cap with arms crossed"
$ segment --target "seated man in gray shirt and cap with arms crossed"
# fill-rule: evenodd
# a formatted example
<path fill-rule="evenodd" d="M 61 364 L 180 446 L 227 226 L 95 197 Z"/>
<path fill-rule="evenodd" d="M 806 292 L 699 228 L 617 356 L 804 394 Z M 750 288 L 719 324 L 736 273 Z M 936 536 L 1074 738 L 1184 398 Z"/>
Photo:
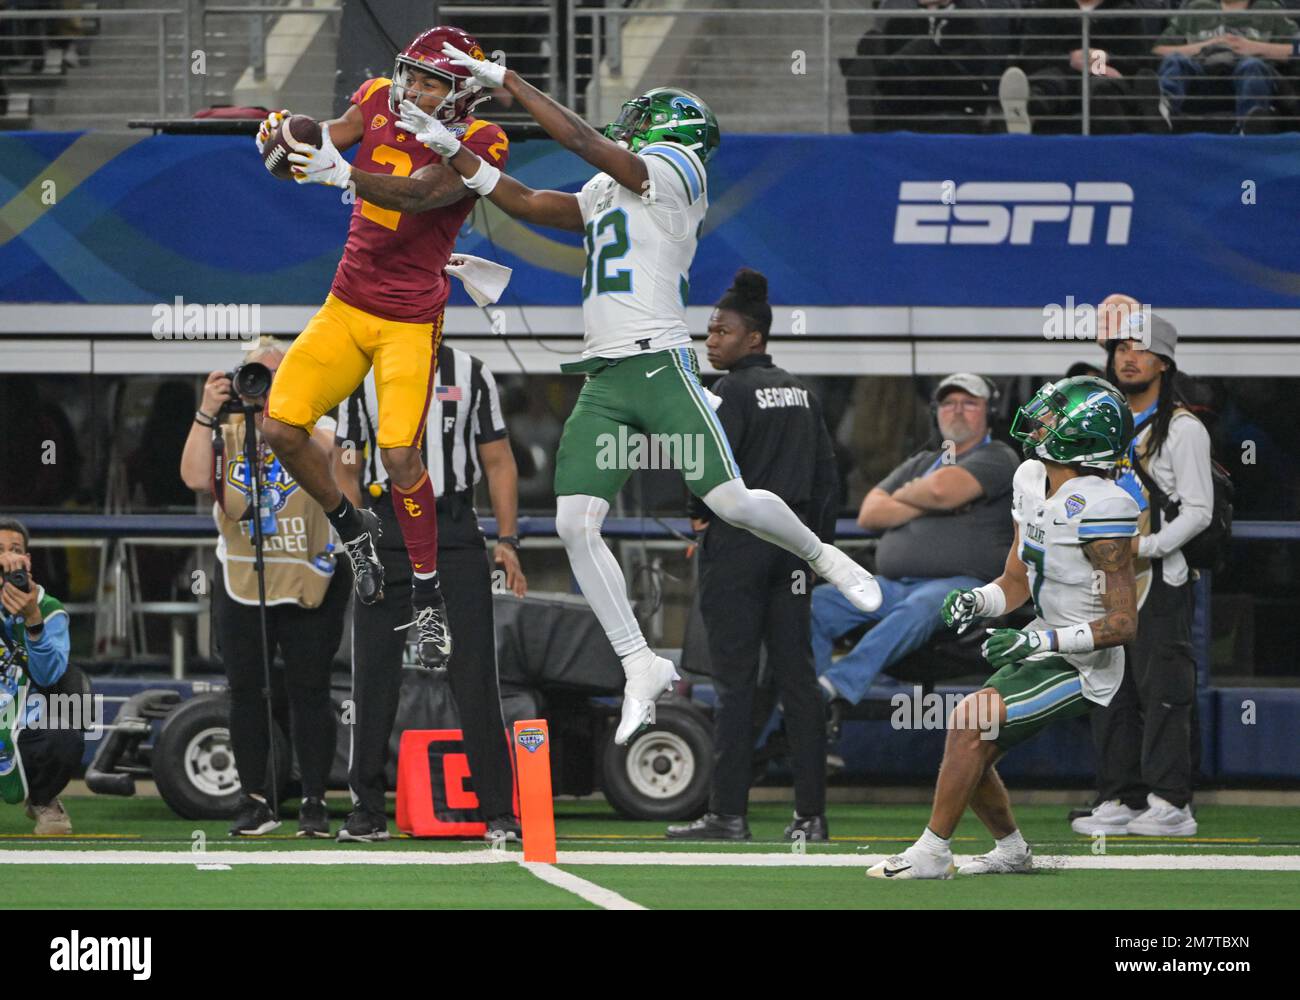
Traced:
<path fill-rule="evenodd" d="M 812 655 L 828 700 L 859 702 L 876 674 L 923 646 L 941 627 L 944 596 L 1002 572 L 1011 546 L 1011 477 L 1020 459 L 989 437 L 996 394 L 979 375 L 958 373 L 935 390 L 944 447 L 920 451 L 862 501 L 858 524 L 884 534 L 876 581 L 884 602 L 858 611 L 838 590 L 812 592 Z M 831 662 L 835 640 L 875 623 L 853 651 Z"/>

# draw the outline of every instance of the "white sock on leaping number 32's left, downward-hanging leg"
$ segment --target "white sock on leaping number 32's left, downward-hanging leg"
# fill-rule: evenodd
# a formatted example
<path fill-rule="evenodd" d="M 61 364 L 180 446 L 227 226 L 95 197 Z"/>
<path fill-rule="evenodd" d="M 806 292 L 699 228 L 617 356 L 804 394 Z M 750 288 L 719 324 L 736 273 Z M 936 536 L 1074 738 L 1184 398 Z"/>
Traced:
<path fill-rule="evenodd" d="M 646 640 L 637 616 L 632 614 L 628 584 L 619 560 L 601 537 L 601 525 L 608 512 L 608 502 L 599 497 L 559 497 L 555 501 L 555 532 L 564 542 L 569 568 L 610 645 L 620 657 L 627 657 L 646 649 Z"/>

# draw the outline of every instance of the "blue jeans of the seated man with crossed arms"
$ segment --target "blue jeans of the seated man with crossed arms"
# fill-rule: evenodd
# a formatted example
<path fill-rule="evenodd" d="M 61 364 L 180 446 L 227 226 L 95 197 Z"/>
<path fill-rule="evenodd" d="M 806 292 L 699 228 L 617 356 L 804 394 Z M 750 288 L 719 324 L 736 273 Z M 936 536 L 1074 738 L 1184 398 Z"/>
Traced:
<path fill-rule="evenodd" d="M 818 676 L 829 680 L 854 705 L 866 697 L 876 674 L 920 649 L 944 627 L 939 611 L 949 590 L 968 590 L 985 581 L 974 576 L 904 580 L 878 576 L 876 583 L 884 599 L 875 611 L 859 611 L 831 584 L 812 590 L 812 661 Z M 832 664 L 835 640 L 864 622 L 876 624 L 852 653 Z"/>

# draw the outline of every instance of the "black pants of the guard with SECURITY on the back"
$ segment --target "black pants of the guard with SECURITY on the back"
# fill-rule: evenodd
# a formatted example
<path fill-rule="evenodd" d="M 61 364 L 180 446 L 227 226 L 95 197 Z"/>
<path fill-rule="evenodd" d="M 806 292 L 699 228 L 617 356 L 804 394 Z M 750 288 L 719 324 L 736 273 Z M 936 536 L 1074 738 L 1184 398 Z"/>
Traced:
<path fill-rule="evenodd" d="M 818 815 L 826 811 L 826 709 L 812 668 L 807 563 L 719 520 L 708 525 L 701 559 L 699 610 L 718 692 L 710 809 L 724 815 L 748 809 L 758 657 L 766 646 L 790 744 L 794 808 Z"/>

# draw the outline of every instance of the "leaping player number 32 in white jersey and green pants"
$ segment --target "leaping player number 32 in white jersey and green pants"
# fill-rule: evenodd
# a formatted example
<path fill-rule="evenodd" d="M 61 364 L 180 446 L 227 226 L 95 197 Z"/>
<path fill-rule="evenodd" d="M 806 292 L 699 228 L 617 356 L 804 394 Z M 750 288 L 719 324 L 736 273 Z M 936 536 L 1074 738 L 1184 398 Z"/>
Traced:
<path fill-rule="evenodd" d="M 646 645 L 623 571 L 601 537 L 610 502 L 636 464 L 634 449 L 667 451 L 714 514 L 807 560 L 855 607 L 879 607 L 880 588 L 777 495 L 745 486 L 714 414 L 718 401 L 699 384 L 686 298 L 708 209 L 705 168 L 719 144 L 708 107 L 688 91 L 659 87 L 627 101 L 602 134 L 512 70 L 450 46 L 445 51 L 484 86 L 507 90 L 551 138 L 601 172 L 576 195 L 536 191 L 480 160 L 442 122 L 402 107 L 400 127 L 451 164 L 469 190 L 516 218 L 584 234 L 585 350 L 581 362 L 563 368 L 586 381 L 556 456 L 555 528 L 623 661 L 627 684 L 614 739 L 625 744 L 653 722 L 655 698 L 677 679 L 672 662 Z M 629 445 L 629 454 L 619 454 L 615 442 Z"/>

